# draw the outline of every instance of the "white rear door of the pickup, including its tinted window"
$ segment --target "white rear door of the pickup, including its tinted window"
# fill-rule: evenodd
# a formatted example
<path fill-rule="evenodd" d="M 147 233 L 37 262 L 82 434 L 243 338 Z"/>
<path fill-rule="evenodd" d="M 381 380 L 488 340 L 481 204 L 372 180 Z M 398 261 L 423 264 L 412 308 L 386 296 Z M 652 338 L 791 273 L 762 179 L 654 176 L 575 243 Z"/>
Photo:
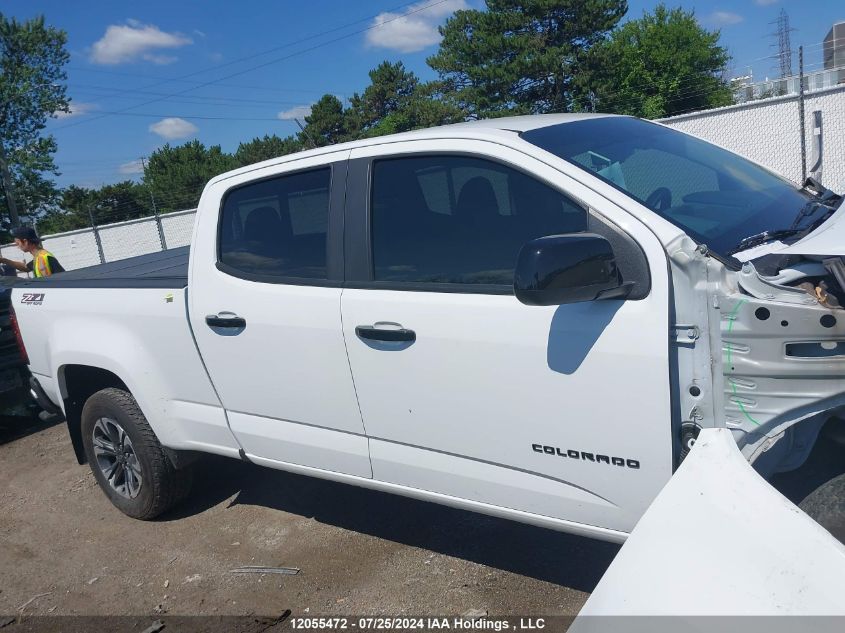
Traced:
<path fill-rule="evenodd" d="M 209 186 L 192 247 L 190 318 L 252 460 L 370 477 L 340 322 L 348 154 Z"/>

